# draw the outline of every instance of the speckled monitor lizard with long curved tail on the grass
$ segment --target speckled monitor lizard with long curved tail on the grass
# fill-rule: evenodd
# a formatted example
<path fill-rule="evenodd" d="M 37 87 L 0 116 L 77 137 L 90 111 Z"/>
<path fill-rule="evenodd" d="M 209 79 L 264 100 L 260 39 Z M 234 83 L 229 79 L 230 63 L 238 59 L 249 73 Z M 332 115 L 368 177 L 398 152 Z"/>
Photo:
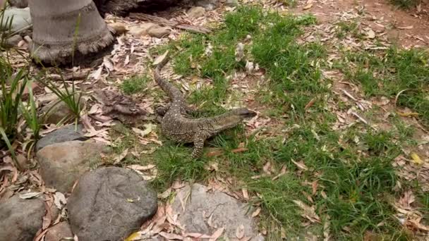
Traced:
<path fill-rule="evenodd" d="M 175 142 L 193 142 L 193 158 L 198 158 L 203 154 L 203 146 L 207 138 L 216 135 L 222 130 L 233 128 L 245 118 L 256 116 L 254 111 L 249 111 L 246 108 L 238 108 L 211 118 L 189 118 L 188 113 L 191 113 L 193 109 L 186 104 L 180 90 L 167 80 L 164 80 L 160 75 L 162 67 L 167 62 L 168 59 L 165 58 L 155 69 L 157 84 L 171 99 L 171 103 L 166 109 L 159 109 L 157 111 L 164 115 L 161 121 L 162 132 Z"/>

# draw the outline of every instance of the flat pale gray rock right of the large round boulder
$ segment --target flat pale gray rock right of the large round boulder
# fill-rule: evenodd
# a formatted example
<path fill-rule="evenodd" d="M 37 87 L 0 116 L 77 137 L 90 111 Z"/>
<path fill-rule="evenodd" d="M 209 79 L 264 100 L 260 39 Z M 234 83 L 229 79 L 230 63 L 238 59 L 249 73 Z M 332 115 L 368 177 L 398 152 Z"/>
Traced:
<path fill-rule="evenodd" d="M 189 197 L 187 197 L 191 194 Z M 182 202 L 187 200 L 183 212 Z M 257 227 L 248 206 L 230 197 L 224 192 L 209 192 L 200 184 L 181 189 L 172 205 L 174 214 L 179 214 L 179 222 L 186 227 L 188 233 L 204 233 L 212 235 L 217 228 L 225 228 L 224 233 L 230 238 L 236 238 L 236 230 L 240 225 L 244 226 L 244 237 L 252 237 L 251 240 L 263 240 L 258 235 Z M 209 225 L 209 218 L 211 225 Z"/>

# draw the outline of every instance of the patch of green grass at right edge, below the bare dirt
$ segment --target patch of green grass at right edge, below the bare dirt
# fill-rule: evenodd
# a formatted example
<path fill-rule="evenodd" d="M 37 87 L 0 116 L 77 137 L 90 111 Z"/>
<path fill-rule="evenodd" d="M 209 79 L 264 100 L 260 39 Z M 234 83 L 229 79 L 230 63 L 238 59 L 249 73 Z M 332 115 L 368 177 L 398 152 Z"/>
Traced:
<path fill-rule="evenodd" d="M 346 52 L 339 63 L 346 78 L 361 84 L 365 94 L 398 97 L 397 104 L 419 113 L 429 126 L 429 53 L 423 49 L 390 48 L 382 53 Z M 350 63 L 356 68 L 349 68 Z"/>

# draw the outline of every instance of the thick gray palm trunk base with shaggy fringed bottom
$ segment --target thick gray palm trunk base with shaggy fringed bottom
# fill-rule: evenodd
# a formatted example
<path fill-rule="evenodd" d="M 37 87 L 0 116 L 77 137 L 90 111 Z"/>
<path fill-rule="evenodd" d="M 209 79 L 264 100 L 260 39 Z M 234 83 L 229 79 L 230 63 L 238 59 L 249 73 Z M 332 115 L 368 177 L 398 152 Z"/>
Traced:
<path fill-rule="evenodd" d="M 96 53 L 114 40 L 92 0 L 32 0 L 29 4 L 33 22 L 29 49 L 36 61 L 71 63 L 72 56 Z"/>

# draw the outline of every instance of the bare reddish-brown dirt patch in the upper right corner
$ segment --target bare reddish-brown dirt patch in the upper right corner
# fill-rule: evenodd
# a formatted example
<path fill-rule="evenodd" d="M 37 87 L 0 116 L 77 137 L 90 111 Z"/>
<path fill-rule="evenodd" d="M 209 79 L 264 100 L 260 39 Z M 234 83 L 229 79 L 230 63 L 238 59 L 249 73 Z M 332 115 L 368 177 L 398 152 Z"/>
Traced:
<path fill-rule="evenodd" d="M 311 7 L 308 8 L 311 4 Z M 346 14 L 358 13 L 363 25 L 372 28 L 377 36 L 387 36 L 401 47 L 423 47 L 429 45 L 429 5 L 404 11 L 387 0 L 377 1 L 300 1 L 296 13 L 313 13 L 321 23 L 341 20 Z"/>

